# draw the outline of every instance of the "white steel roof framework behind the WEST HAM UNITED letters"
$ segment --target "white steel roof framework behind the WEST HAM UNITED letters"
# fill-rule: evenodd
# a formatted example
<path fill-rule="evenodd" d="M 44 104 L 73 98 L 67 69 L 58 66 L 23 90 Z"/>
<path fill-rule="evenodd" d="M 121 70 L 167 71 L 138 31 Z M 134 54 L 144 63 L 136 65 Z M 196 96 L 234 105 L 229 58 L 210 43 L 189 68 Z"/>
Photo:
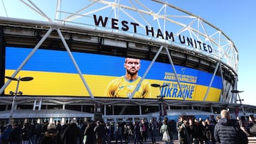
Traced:
<path fill-rule="evenodd" d="M 14 0 L 2 1 L 0 7 L 0 21 L 21 18 L 16 21 L 41 23 L 52 28 L 78 28 L 96 33 L 112 33 L 133 40 L 146 40 L 149 43 L 160 43 L 210 57 L 229 67 L 235 74 L 238 72 L 238 50 L 223 31 L 200 16 L 164 1 L 151 0 L 144 3 L 139 0 Z M 109 18 L 107 25 L 95 26 L 93 15 Z M 111 21 L 117 23 L 119 28 L 113 29 Z M 124 21 L 128 24 L 122 23 Z M 136 33 L 135 24 L 131 23 L 138 24 Z M 126 28 L 124 26 L 128 26 L 129 30 L 123 31 L 121 27 Z M 154 28 L 152 33 L 155 34 L 152 35 L 150 32 L 149 35 L 145 35 L 146 27 Z M 166 32 L 173 33 L 176 40 L 166 40 Z M 212 52 L 209 54 L 204 50 L 177 43 L 180 35 L 206 43 L 212 48 Z"/>

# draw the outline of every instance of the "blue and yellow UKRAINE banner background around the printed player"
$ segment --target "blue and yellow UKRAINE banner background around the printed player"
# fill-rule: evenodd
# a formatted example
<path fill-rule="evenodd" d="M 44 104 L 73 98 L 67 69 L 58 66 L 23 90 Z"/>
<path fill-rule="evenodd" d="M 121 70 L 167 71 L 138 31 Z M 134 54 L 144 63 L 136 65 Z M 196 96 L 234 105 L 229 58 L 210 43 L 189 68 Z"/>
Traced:
<path fill-rule="evenodd" d="M 6 76 L 14 74 L 31 50 L 31 48 L 6 48 Z M 107 97 L 108 84 L 113 79 L 125 74 L 124 57 L 83 52 L 73 52 L 73 56 L 80 67 L 85 82 L 95 97 Z M 150 63 L 151 61 L 141 60 L 140 77 L 146 72 Z M 183 96 L 185 96 L 186 100 L 203 101 L 213 74 L 178 65 L 175 68 L 181 89 L 171 64 L 154 62 L 144 81 L 149 84 L 167 86 L 148 87 L 150 94 L 144 99 L 159 99 L 159 96 L 164 96 L 164 99 L 183 100 Z M 29 82 L 20 82 L 18 91 L 23 92 L 23 95 L 90 96 L 66 51 L 38 49 L 16 77 L 34 78 Z M 5 94 L 15 91 L 16 84 L 16 81 L 12 81 L 6 87 Z M 221 89 L 221 78 L 215 76 L 206 101 L 219 101 Z M 181 94 L 181 91 L 184 95 Z M 119 97 L 127 98 L 129 96 L 122 95 Z"/>

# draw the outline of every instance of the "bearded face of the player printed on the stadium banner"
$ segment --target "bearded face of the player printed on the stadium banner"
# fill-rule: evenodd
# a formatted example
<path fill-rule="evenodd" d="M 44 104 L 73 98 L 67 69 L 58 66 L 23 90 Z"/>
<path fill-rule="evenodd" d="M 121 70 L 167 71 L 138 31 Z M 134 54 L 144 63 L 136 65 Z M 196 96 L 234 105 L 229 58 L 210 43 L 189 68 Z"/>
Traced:
<path fill-rule="evenodd" d="M 136 74 L 137 72 L 139 72 L 140 60 L 127 58 L 126 62 L 124 63 L 124 67 L 129 74 Z"/>

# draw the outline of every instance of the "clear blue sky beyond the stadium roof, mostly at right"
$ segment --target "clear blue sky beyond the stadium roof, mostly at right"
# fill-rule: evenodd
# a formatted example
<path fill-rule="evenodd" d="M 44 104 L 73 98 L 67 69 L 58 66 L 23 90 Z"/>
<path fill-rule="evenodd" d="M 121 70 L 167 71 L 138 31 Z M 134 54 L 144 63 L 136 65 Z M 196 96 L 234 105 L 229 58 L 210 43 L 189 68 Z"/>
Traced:
<path fill-rule="evenodd" d="M 10 5 L 12 10 L 21 9 L 21 1 L 3 0 L 5 6 Z M 41 0 L 45 2 L 46 0 Z M 53 2 L 53 0 L 48 0 Z M 142 0 L 148 1 L 148 0 Z M 166 0 L 169 4 L 179 7 L 185 11 L 201 16 L 209 23 L 220 28 L 228 37 L 233 40 L 239 52 L 238 64 L 238 90 L 244 91 L 240 93 L 242 103 L 256 105 L 255 99 L 255 74 L 256 67 L 256 1 L 255 0 Z M 2 1 L 1 1 L 2 2 Z M 7 2 L 7 3 L 6 3 Z M 39 1 L 36 1 L 39 2 Z M 55 5 L 44 5 L 44 8 L 55 8 Z M 8 8 L 7 8 L 8 9 Z M 22 9 L 26 11 L 26 9 Z M 5 15 L 4 7 L 0 3 L 0 15 Z M 7 11 L 10 13 L 11 11 Z M 48 13 L 48 12 L 46 12 Z M 26 16 L 27 17 L 27 16 Z"/>

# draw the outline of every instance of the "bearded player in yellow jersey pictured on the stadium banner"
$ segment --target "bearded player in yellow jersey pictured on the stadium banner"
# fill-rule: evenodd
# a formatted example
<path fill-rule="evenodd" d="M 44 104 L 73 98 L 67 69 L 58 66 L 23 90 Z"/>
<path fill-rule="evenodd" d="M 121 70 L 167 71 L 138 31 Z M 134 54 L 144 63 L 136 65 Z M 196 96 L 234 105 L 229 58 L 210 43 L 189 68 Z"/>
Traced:
<path fill-rule="evenodd" d="M 142 79 L 142 77 L 138 75 L 140 67 L 141 63 L 139 59 L 127 57 L 124 62 L 124 68 L 126 69 L 125 75 L 112 80 L 110 84 L 108 84 L 105 96 L 132 98 L 132 92 L 134 92 L 140 79 Z M 150 84 L 146 80 L 143 80 L 133 98 L 150 97 Z"/>

